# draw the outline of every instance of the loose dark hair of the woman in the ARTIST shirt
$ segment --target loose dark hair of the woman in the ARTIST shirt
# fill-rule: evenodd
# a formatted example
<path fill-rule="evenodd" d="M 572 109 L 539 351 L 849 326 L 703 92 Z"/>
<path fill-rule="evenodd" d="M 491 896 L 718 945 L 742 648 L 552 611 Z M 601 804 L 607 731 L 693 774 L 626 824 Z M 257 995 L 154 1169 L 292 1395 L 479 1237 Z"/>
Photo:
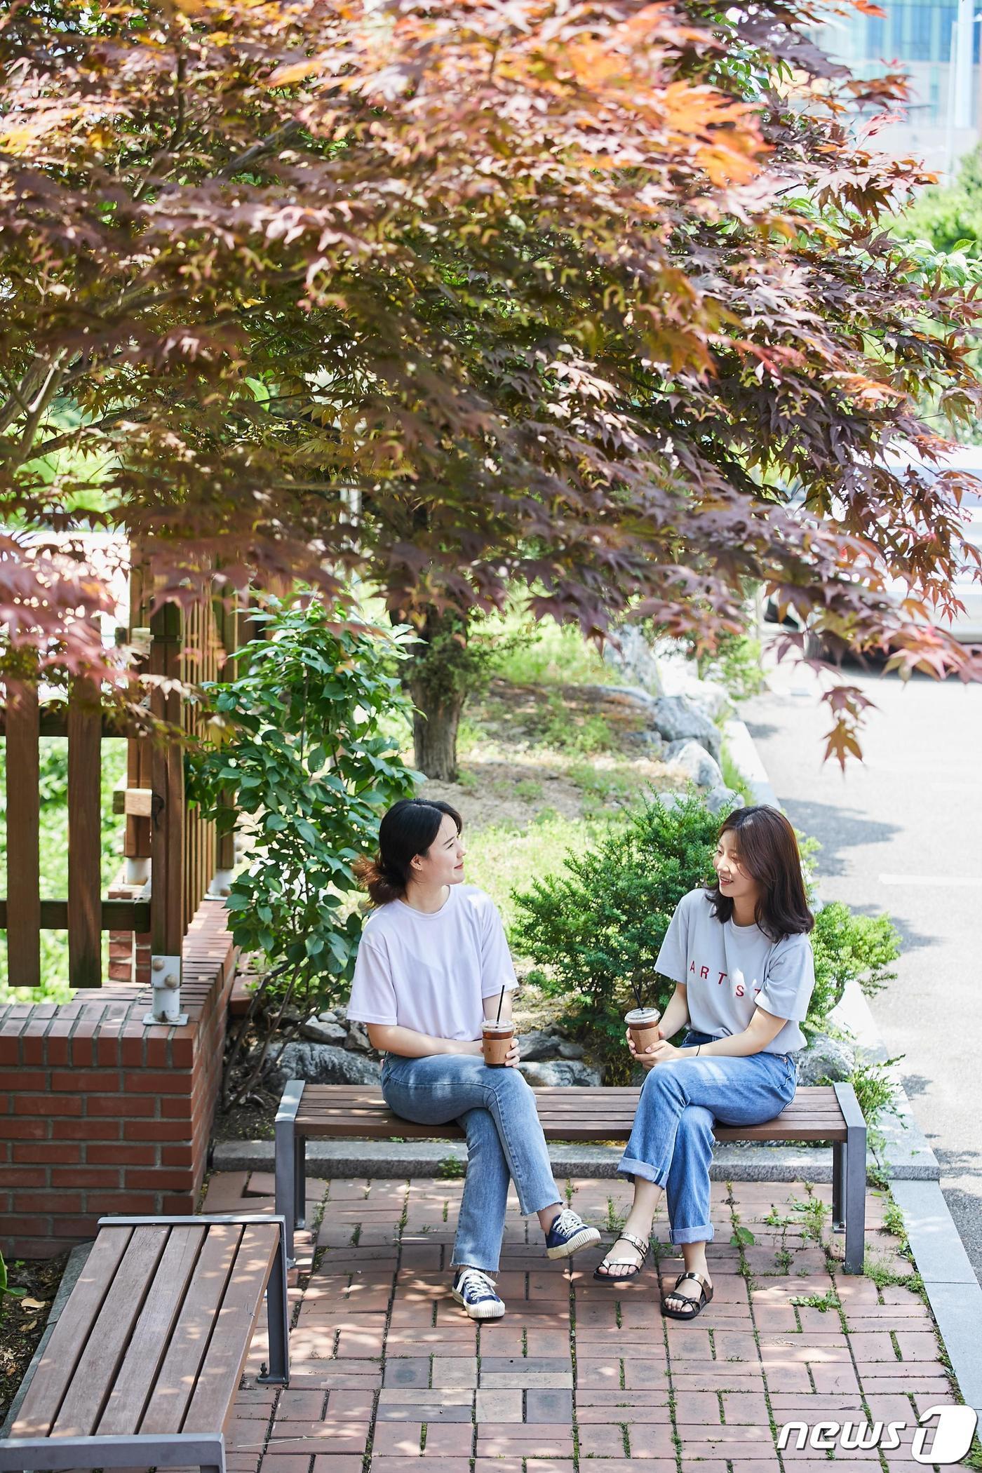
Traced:
<path fill-rule="evenodd" d="M 791 823 L 777 809 L 760 804 L 735 809 L 723 819 L 718 837 L 732 834 L 741 869 L 760 885 L 754 919 L 771 941 L 801 935 L 816 924 L 805 897 L 801 853 Z M 733 918 L 733 901 L 720 893 L 718 882 L 707 887 L 717 921 Z"/>

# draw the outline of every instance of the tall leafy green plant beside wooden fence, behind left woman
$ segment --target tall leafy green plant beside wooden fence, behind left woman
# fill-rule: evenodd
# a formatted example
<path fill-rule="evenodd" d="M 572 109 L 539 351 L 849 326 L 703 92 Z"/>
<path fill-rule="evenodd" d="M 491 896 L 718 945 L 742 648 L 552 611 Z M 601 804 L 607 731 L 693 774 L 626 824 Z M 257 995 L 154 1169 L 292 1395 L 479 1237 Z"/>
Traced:
<path fill-rule="evenodd" d="M 362 928 L 346 904 L 358 887 L 352 865 L 374 847 L 386 807 L 414 787 L 380 731 L 384 714 L 406 707 L 398 666 L 409 639 L 403 629 L 342 627 L 317 601 L 271 601 L 262 638 L 237 654 L 237 679 L 205 686 L 213 741 L 188 759 L 188 794 L 219 831 L 236 810 L 246 815 L 250 850 L 231 885 L 230 928 L 268 968 L 239 1044 L 275 1003 L 236 1097 L 262 1077 L 290 1005 L 309 1012 L 346 994 Z M 236 1056 L 233 1044 L 230 1072 Z"/>

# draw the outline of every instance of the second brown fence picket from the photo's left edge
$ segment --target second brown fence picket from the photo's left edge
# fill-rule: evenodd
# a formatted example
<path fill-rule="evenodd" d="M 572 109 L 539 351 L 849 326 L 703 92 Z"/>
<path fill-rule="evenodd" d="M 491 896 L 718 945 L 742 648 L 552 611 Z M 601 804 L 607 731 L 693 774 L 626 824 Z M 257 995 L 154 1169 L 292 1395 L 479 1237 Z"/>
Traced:
<path fill-rule="evenodd" d="M 102 709 L 99 688 L 68 695 L 68 980 L 102 985 Z"/>

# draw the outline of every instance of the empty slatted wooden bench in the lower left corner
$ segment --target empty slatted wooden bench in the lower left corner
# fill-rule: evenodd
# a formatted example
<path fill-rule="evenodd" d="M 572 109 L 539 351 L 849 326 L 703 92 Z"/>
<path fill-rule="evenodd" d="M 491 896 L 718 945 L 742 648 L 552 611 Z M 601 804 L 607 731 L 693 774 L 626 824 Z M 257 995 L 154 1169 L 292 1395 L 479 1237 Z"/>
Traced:
<path fill-rule="evenodd" d="M 0 1469 L 200 1467 L 224 1430 L 262 1296 L 286 1386 L 281 1218 L 107 1217 L 31 1379 Z"/>

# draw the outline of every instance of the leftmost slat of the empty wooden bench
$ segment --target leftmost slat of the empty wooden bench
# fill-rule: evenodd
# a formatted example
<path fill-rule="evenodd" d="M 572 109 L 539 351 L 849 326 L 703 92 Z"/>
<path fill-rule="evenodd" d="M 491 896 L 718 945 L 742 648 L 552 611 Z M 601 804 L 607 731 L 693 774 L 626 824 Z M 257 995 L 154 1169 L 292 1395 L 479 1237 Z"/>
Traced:
<path fill-rule="evenodd" d="M 96 1239 L 68 1304 L 52 1330 L 41 1363 L 31 1377 L 12 1436 L 46 1438 L 50 1433 L 130 1236 L 128 1228 L 121 1228 L 112 1234 L 100 1233 Z"/>

